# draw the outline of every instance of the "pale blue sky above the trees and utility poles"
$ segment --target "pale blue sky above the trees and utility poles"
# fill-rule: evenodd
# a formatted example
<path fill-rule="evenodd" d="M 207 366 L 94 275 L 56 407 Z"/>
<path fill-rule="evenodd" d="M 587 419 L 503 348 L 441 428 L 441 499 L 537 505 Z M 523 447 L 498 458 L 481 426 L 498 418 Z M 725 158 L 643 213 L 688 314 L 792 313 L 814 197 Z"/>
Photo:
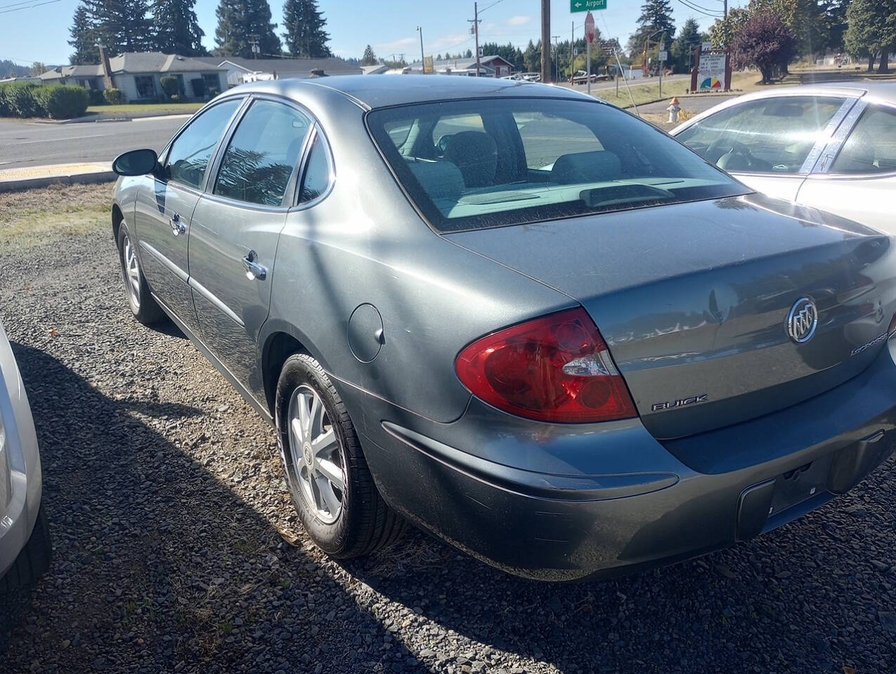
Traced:
<path fill-rule="evenodd" d="M 282 0 L 269 2 L 273 21 L 280 22 Z M 694 17 L 701 30 L 707 30 L 714 19 L 693 7 L 720 12 L 721 3 L 722 0 L 672 0 L 676 27 Z M 68 31 L 77 4 L 78 0 L 0 0 L 0 59 L 20 64 L 67 64 L 72 51 Z M 594 12 L 601 37 L 618 38 L 625 47 L 641 14 L 641 4 L 642 0 L 607 0 L 606 10 Z M 742 4 L 745 0 L 732 0 L 729 6 Z M 217 5 L 218 0 L 197 0 L 195 5 L 199 25 L 205 31 L 202 42 L 209 49 L 215 46 Z M 473 17 L 472 0 L 319 0 L 318 8 L 327 20 L 330 48 L 335 55 L 360 58 L 364 47 L 370 44 L 380 57 L 398 57 L 403 53 L 408 61 L 418 59 L 418 26 L 423 30 L 426 55 L 463 52 L 473 47 L 467 21 Z M 540 0 L 482 0 L 479 9 L 480 42 L 513 42 L 524 48 L 530 38 L 538 40 Z M 551 3 L 552 36 L 568 39 L 574 22 L 576 37 L 582 37 L 585 14 L 569 10 L 570 0 Z M 277 30 L 280 32 L 281 28 Z"/>

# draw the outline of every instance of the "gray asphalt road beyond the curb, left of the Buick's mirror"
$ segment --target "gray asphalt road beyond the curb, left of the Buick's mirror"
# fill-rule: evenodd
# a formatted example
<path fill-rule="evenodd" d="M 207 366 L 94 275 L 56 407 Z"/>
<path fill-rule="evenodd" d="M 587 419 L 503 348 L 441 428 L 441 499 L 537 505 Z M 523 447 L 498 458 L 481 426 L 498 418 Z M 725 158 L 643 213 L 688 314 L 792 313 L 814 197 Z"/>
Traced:
<path fill-rule="evenodd" d="M 0 169 L 111 161 L 128 149 L 162 149 L 187 115 L 130 122 L 0 122 Z"/>

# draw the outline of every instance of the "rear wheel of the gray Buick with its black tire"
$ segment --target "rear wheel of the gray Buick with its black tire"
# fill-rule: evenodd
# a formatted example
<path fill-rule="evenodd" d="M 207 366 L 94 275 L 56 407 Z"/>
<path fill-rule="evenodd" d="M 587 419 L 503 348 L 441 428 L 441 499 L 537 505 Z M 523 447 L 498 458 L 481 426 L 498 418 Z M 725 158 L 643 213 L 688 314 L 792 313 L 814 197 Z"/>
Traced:
<path fill-rule="evenodd" d="M 311 429 L 315 424 L 314 410 L 320 410 L 314 407 L 315 396 L 323 405 L 318 413 L 321 421 L 316 436 Z M 300 426 L 303 423 L 301 413 L 297 414 L 301 405 L 306 405 L 306 411 L 310 407 L 305 431 L 295 428 L 296 422 Z M 407 526 L 405 520 L 386 505 L 377 491 L 349 413 L 320 363 L 310 355 L 294 354 L 283 364 L 277 382 L 275 418 L 287 489 L 299 520 L 317 547 L 334 558 L 350 559 L 401 537 Z M 329 437 L 328 427 L 335 447 L 323 441 Z M 312 449 L 315 438 L 321 441 Z M 331 453 L 326 455 L 329 458 L 324 457 L 324 451 L 318 454 L 318 447 L 331 447 Z M 338 477 L 332 481 L 326 477 L 337 472 L 335 469 L 341 469 L 341 491 Z M 330 500 L 333 496 L 341 497 L 338 508 L 327 507 L 328 499 L 323 494 L 328 489 Z"/>

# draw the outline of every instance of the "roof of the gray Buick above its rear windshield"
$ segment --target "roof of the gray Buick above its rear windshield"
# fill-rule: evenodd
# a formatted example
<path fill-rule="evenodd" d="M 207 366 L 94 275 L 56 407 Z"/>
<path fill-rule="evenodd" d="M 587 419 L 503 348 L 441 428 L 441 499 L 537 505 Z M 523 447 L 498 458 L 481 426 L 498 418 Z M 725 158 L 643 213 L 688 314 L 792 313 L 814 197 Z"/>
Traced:
<path fill-rule="evenodd" d="M 268 80 L 241 85 L 228 93 L 259 91 L 285 98 L 314 96 L 321 88 L 339 91 L 368 109 L 458 98 L 574 98 L 596 100 L 549 84 L 461 75 L 338 75 L 308 80 Z"/>

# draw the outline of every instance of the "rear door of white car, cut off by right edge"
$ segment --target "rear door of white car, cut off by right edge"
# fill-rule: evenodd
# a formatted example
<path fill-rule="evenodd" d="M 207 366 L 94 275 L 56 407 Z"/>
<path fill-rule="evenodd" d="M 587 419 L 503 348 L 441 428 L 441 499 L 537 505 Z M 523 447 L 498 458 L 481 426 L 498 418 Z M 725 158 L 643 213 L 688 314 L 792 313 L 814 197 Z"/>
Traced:
<path fill-rule="evenodd" d="M 896 108 L 860 101 L 802 185 L 800 203 L 896 234 Z"/>

